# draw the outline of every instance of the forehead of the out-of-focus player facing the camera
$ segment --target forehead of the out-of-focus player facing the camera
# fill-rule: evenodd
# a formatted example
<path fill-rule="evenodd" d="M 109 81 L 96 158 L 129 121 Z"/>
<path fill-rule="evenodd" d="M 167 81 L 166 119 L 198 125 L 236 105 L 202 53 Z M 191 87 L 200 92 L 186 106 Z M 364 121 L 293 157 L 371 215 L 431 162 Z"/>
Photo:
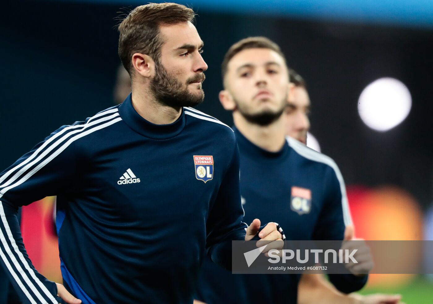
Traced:
<path fill-rule="evenodd" d="M 227 70 L 236 72 L 243 67 L 265 67 L 276 65 L 285 67 L 284 59 L 276 51 L 269 48 L 248 48 L 240 51 L 230 59 Z"/>

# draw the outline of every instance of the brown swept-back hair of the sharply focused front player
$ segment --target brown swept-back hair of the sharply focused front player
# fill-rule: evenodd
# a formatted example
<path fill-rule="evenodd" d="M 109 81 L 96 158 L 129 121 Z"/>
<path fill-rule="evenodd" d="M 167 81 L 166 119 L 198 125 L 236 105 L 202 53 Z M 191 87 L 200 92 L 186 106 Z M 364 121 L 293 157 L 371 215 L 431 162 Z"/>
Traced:
<path fill-rule="evenodd" d="M 177 3 L 149 3 L 137 6 L 119 25 L 118 53 L 123 66 L 132 72 L 132 55 L 143 53 L 158 61 L 163 41 L 159 35 L 160 25 L 192 22 L 192 9 Z"/>

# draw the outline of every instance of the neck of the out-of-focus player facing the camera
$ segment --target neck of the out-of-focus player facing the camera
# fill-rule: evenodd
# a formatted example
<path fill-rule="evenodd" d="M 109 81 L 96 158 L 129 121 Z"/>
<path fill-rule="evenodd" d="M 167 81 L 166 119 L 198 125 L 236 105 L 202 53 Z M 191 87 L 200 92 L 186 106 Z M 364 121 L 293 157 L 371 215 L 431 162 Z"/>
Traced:
<path fill-rule="evenodd" d="M 269 152 L 278 152 L 286 142 L 283 115 L 267 126 L 253 124 L 239 112 L 233 113 L 233 121 L 243 136 L 256 146 Z"/>

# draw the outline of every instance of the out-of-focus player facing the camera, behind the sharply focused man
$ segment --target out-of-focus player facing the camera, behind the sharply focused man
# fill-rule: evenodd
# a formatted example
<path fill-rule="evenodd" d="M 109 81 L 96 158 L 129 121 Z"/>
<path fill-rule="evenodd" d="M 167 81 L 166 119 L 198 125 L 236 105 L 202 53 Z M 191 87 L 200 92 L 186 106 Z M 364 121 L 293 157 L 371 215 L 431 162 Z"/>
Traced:
<path fill-rule="evenodd" d="M 278 45 L 263 37 L 237 42 L 225 55 L 222 75 L 219 97 L 224 109 L 233 112 L 245 218 L 272 218 L 288 240 L 343 240 L 352 221 L 338 167 L 329 157 L 285 139 L 288 68 Z M 299 199 L 307 203 L 295 204 Z M 197 300 L 296 303 L 299 277 L 232 275 L 205 260 Z M 330 280 L 349 293 L 362 288 L 367 276 L 330 275 Z"/>

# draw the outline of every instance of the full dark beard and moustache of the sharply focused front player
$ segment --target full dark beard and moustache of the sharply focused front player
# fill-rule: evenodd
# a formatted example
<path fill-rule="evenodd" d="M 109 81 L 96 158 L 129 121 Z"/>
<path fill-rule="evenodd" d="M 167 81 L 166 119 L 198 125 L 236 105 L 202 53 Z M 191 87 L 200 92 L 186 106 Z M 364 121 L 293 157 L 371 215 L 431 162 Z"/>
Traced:
<path fill-rule="evenodd" d="M 187 80 L 186 85 L 201 80 L 204 81 L 204 73 L 200 73 Z M 198 85 L 198 83 L 197 83 Z M 181 82 L 172 77 L 165 67 L 155 62 L 155 77 L 150 83 L 150 90 L 157 102 L 172 108 L 197 106 L 204 100 L 204 92 L 193 94 L 188 87 L 183 88 Z"/>

